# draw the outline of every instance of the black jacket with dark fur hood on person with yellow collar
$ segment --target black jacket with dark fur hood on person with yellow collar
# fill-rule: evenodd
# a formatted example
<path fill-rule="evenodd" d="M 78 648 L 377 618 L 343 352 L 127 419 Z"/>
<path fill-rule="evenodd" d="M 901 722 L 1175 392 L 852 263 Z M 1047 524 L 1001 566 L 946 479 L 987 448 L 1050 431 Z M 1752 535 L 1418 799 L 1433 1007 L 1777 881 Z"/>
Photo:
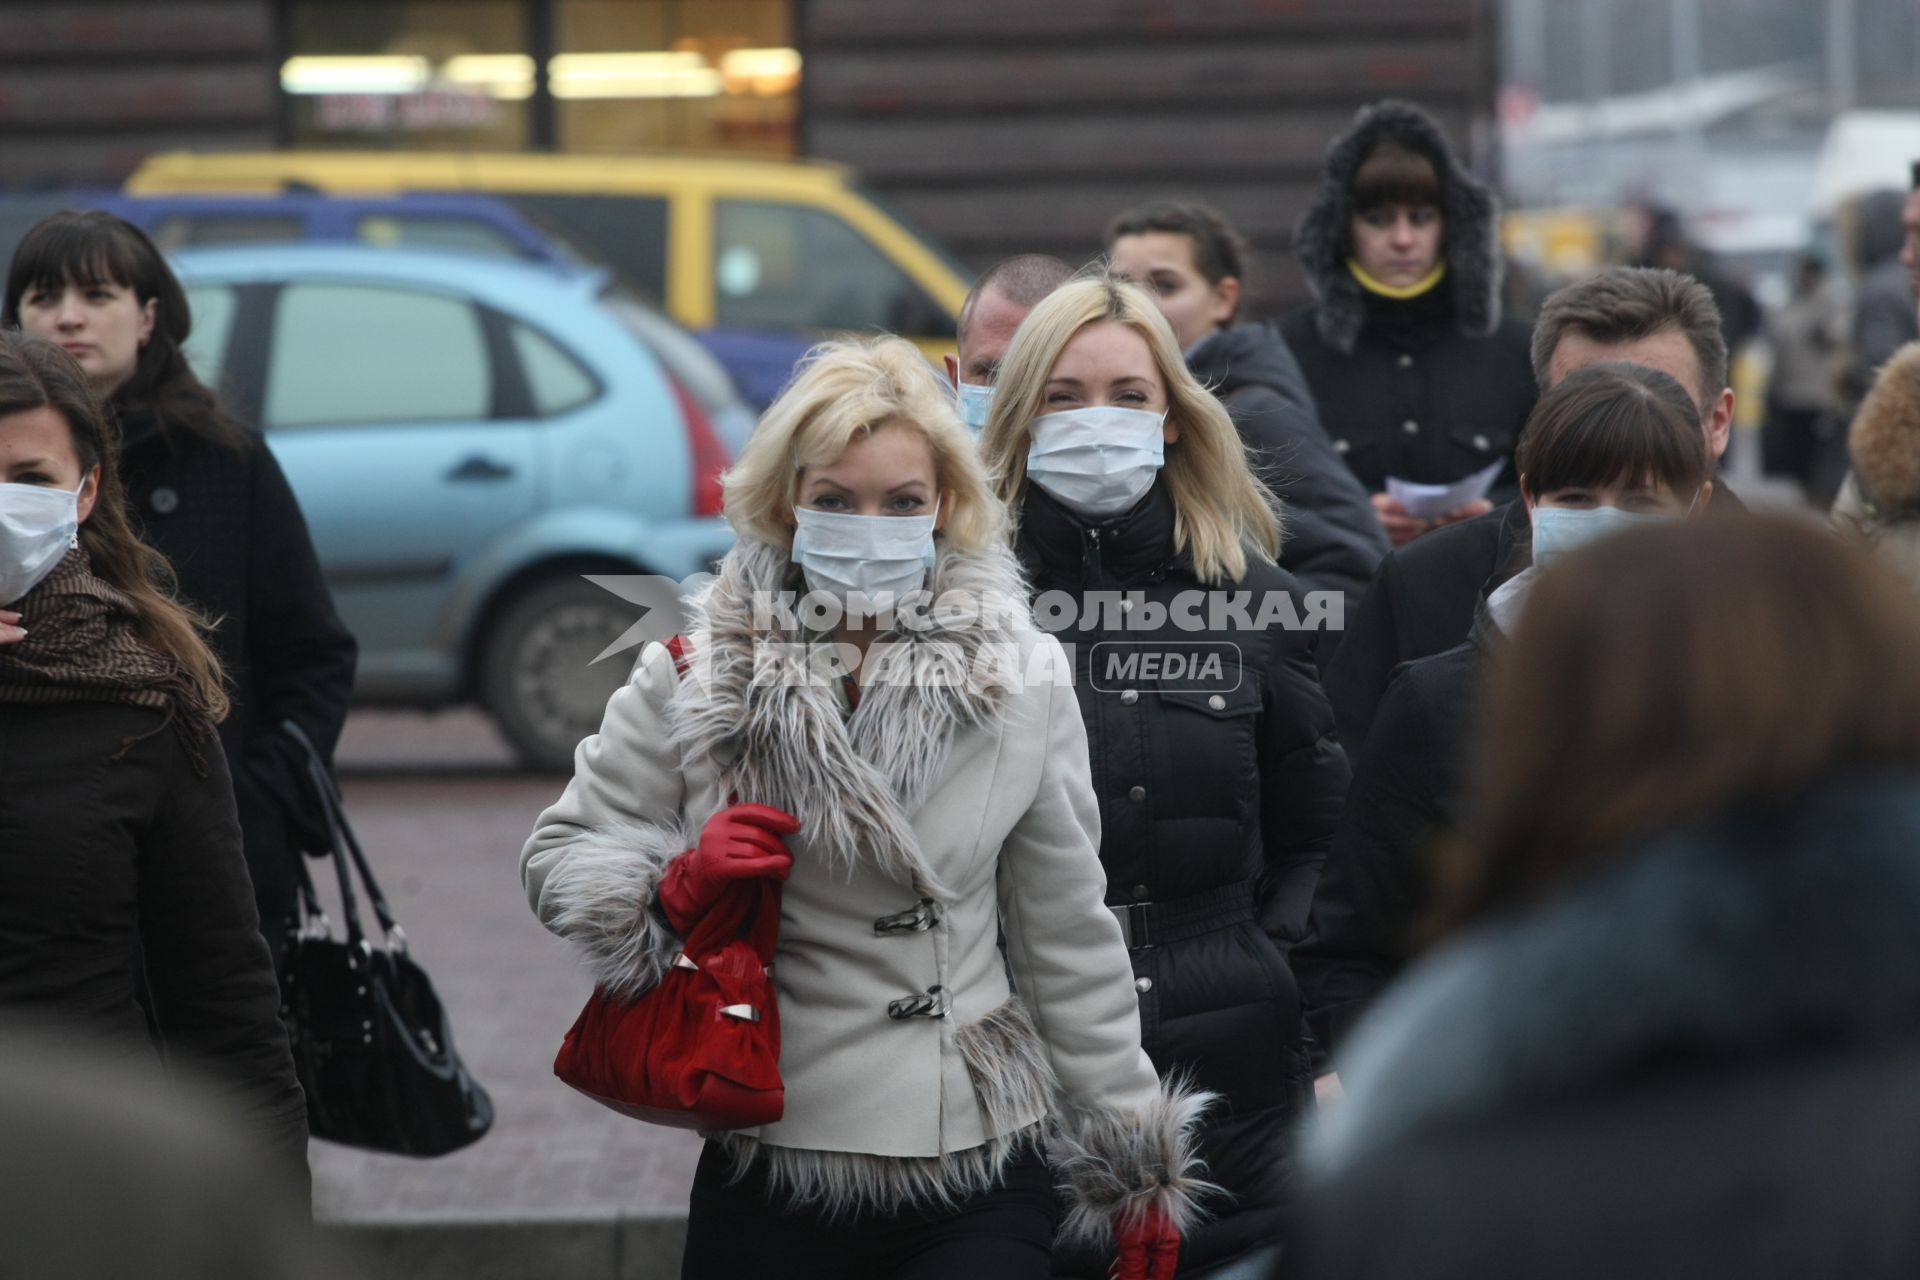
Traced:
<path fill-rule="evenodd" d="M 1440 175 L 1448 274 L 1411 299 L 1369 294 L 1348 269 L 1352 188 L 1361 161 L 1392 140 Z M 1319 299 L 1281 324 L 1334 449 L 1369 493 L 1386 478 L 1450 484 L 1494 461 L 1494 501 L 1513 497 L 1511 459 L 1534 407 L 1526 326 L 1500 315 L 1500 205 L 1453 157 L 1430 115 L 1407 102 L 1361 109 L 1327 152 L 1319 196 L 1294 251 Z"/>

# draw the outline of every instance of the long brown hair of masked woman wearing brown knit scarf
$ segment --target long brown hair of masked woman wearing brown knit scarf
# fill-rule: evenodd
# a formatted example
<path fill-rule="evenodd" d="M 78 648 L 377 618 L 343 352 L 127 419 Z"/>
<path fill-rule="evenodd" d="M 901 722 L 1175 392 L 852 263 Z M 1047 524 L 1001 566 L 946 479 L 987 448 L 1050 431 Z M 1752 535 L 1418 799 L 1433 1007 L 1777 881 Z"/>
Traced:
<path fill-rule="evenodd" d="M 132 603 L 140 639 L 173 654 L 213 720 L 225 718 L 227 689 L 221 660 L 205 641 L 207 624 L 175 599 L 173 566 L 142 543 L 127 522 L 119 432 L 94 395 L 86 370 L 58 344 L 0 330 L 0 418 L 35 409 L 52 409 L 61 416 L 83 472 L 100 468 L 92 514 L 81 524 L 81 547 L 92 562 L 94 578 Z"/>

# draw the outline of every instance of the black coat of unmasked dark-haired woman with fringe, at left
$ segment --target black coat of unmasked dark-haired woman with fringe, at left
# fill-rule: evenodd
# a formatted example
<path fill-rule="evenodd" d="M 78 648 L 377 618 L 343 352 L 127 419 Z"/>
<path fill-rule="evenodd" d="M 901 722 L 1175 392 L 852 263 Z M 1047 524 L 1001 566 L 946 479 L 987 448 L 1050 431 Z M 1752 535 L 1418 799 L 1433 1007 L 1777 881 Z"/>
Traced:
<path fill-rule="evenodd" d="M 213 651 L 232 695 L 221 747 L 261 929 L 278 954 L 292 860 L 300 846 L 326 848 L 301 758 L 278 725 L 292 720 L 332 758 L 353 693 L 353 637 L 334 612 L 300 503 L 257 436 L 232 451 L 146 415 L 123 416 L 121 430 L 134 526 L 173 562 L 180 597 L 219 620 Z"/>

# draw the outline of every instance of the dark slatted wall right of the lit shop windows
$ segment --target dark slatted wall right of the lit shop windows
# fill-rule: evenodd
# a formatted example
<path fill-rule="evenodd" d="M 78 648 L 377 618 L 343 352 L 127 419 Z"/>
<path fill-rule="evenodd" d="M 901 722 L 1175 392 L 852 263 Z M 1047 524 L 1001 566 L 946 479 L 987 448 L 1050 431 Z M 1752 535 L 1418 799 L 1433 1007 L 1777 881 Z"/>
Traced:
<path fill-rule="evenodd" d="M 1327 140 L 1413 98 L 1455 142 L 1494 106 L 1484 0 L 801 0 L 801 150 L 854 165 L 975 269 L 1081 263 L 1121 209 L 1219 207 L 1250 305 L 1306 299 L 1286 251 Z"/>

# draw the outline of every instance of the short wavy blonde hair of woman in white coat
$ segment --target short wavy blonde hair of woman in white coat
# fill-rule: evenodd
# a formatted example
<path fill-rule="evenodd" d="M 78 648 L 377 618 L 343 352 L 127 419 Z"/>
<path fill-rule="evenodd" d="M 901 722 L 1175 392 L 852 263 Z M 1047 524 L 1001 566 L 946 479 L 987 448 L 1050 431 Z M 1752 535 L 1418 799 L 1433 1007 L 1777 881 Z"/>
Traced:
<path fill-rule="evenodd" d="M 935 537 L 960 551 L 991 547 L 1002 535 L 1004 514 L 973 438 L 927 357 L 893 336 L 826 342 L 806 353 L 720 478 L 733 532 L 791 549 L 801 472 L 831 466 L 856 436 L 895 424 L 918 430 L 933 449 L 945 516 Z"/>

